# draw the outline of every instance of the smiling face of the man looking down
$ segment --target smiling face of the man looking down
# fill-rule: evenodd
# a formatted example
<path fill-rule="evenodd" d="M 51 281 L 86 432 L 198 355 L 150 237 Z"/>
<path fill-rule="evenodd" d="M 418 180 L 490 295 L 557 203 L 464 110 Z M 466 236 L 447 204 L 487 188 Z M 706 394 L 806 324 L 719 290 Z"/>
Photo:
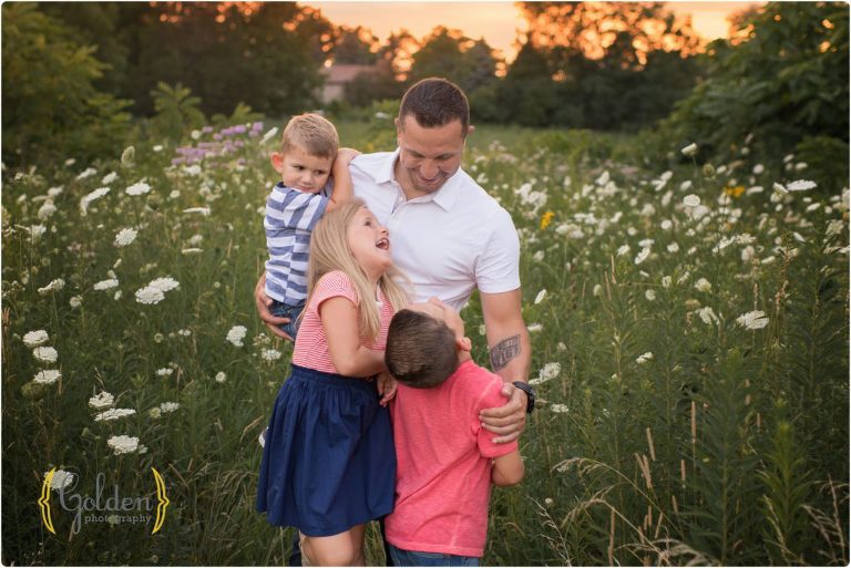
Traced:
<path fill-rule="evenodd" d="M 460 120 L 427 128 L 408 115 L 401 123 L 397 118 L 396 133 L 400 165 L 397 182 L 406 193 L 417 194 L 409 198 L 437 192 L 461 166 L 466 133 Z"/>

